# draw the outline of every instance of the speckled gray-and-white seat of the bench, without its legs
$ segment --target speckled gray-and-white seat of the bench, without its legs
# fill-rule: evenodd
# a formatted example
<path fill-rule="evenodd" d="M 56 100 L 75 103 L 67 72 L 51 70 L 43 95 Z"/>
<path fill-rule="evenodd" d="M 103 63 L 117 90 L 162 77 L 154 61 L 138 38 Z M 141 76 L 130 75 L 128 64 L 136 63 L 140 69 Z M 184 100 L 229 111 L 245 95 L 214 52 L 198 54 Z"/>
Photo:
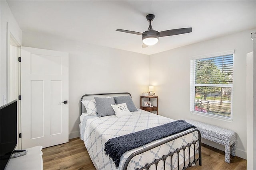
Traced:
<path fill-rule="evenodd" d="M 204 139 L 214 141 L 222 145 L 232 145 L 236 141 L 236 132 L 223 127 L 202 123 L 191 119 L 186 119 L 186 122 L 195 125 L 201 132 Z"/>

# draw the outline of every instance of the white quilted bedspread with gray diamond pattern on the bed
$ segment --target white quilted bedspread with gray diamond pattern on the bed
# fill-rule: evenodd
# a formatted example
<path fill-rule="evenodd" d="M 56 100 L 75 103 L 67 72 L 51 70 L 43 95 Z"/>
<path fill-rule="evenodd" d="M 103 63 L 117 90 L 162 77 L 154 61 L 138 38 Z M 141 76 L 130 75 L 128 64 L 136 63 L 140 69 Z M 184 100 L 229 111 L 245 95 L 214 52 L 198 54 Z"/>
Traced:
<path fill-rule="evenodd" d="M 152 143 L 149 143 L 147 145 L 144 145 L 142 147 L 139 147 L 137 149 L 133 149 L 124 153 L 121 156 L 120 164 L 118 168 L 116 168 L 114 166 L 114 162 L 112 161 L 112 159 L 109 158 L 109 156 L 107 156 L 104 151 L 104 144 L 109 139 L 126 135 L 128 133 L 141 131 L 143 129 L 156 127 L 156 126 L 174 121 L 173 119 L 169 119 L 160 115 L 149 113 L 141 109 L 138 109 L 138 111 L 134 111 L 131 113 L 132 113 L 132 116 L 126 116 L 126 117 L 116 117 L 115 115 L 105 116 L 105 117 L 92 117 L 89 119 L 86 119 L 86 117 L 84 117 L 84 121 L 81 123 L 81 127 L 85 127 L 84 139 L 83 139 L 84 144 L 90 154 L 92 161 L 94 162 L 94 165 L 98 170 L 115 170 L 115 169 L 121 170 L 122 167 L 124 166 L 126 159 L 131 153 L 133 153 L 136 150 L 142 149 L 148 145 L 152 145 L 156 142 L 163 140 L 163 139 L 160 139 L 158 141 L 154 141 Z M 154 148 L 147 152 L 144 152 L 141 155 L 135 156 L 130 161 L 128 165 L 128 169 L 141 168 L 146 163 L 150 163 L 150 161 L 153 162 L 156 158 L 161 158 L 162 155 L 168 154 L 170 150 L 174 151 L 176 150 L 176 148 L 182 147 L 183 145 L 186 145 L 187 143 L 197 139 L 198 139 L 198 133 L 194 132 L 184 137 L 175 139 L 174 141 L 170 141 L 169 143 L 163 144 L 158 148 Z M 194 148 L 191 147 L 190 149 L 191 154 L 194 154 L 193 150 Z M 180 154 L 181 154 L 180 162 L 183 162 L 183 158 L 182 158 L 183 153 L 180 152 Z M 189 156 L 187 152 L 185 152 L 185 155 L 186 155 L 186 158 L 188 159 Z M 170 166 L 170 163 L 171 163 L 171 160 L 166 159 L 166 165 Z M 178 160 L 176 155 L 173 158 L 173 168 L 176 168 L 177 166 L 178 166 Z M 183 166 L 183 163 L 180 166 Z M 152 166 L 152 169 L 155 169 L 154 165 Z M 159 162 L 158 170 L 161 170 L 161 169 L 163 169 L 163 164 L 162 162 Z"/>

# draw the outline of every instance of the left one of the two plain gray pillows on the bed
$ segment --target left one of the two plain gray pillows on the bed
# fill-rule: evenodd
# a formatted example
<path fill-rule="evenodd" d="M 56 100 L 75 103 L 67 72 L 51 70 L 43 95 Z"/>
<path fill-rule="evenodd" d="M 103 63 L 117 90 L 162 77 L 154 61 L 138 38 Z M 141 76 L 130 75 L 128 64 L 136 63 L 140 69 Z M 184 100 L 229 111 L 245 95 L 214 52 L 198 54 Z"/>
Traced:
<path fill-rule="evenodd" d="M 114 98 L 94 98 L 97 105 L 98 117 L 115 115 L 111 104 L 115 104 Z"/>

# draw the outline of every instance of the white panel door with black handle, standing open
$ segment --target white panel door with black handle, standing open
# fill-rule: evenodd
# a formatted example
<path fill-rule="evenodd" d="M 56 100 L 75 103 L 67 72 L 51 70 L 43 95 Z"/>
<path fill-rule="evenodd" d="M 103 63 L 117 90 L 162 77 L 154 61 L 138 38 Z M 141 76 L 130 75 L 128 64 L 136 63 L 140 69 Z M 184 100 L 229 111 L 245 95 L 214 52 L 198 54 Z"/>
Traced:
<path fill-rule="evenodd" d="M 22 149 L 68 142 L 68 53 L 21 47 Z"/>

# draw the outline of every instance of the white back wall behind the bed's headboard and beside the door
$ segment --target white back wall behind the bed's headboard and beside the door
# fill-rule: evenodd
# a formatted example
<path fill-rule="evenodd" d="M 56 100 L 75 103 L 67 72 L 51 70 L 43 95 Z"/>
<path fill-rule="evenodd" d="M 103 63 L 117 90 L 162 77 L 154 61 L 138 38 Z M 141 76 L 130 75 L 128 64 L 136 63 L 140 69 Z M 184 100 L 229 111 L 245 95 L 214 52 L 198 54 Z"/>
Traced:
<path fill-rule="evenodd" d="M 79 137 L 79 101 L 90 93 L 130 92 L 139 107 L 148 90 L 149 57 L 109 47 L 84 44 L 42 34 L 22 34 L 26 47 L 69 53 L 69 133 Z"/>

